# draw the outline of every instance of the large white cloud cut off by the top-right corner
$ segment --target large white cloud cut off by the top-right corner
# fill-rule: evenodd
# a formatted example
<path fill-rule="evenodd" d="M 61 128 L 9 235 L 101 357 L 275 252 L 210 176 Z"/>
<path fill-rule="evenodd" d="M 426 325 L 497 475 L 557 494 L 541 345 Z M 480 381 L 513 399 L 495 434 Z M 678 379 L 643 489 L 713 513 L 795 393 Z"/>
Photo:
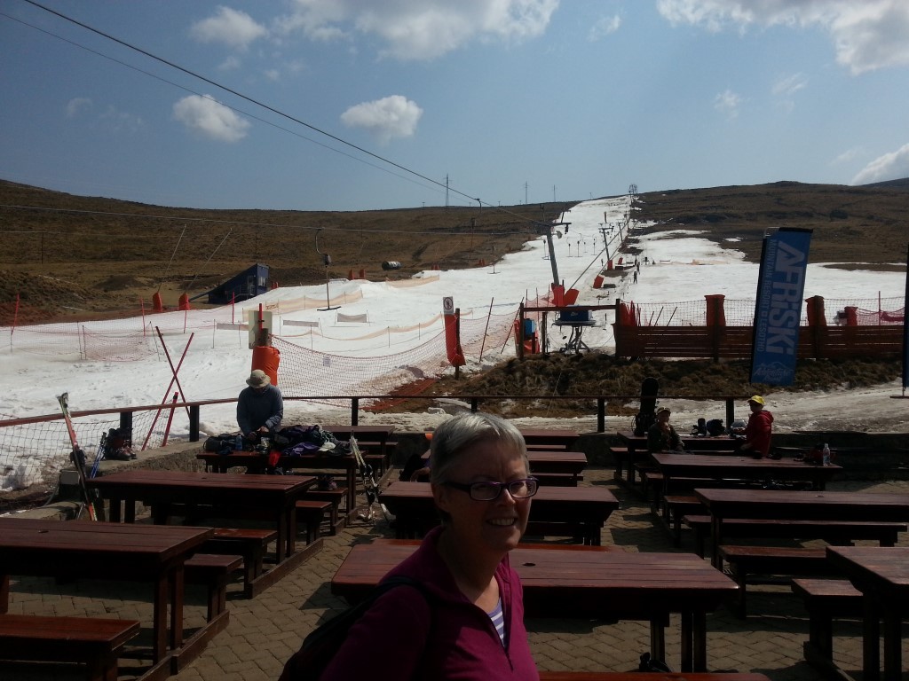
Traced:
<path fill-rule="evenodd" d="M 853 74 L 909 65 L 906 0 L 658 0 L 670 23 L 709 31 L 749 25 L 819 27 L 834 43 L 836 61 Z"/>

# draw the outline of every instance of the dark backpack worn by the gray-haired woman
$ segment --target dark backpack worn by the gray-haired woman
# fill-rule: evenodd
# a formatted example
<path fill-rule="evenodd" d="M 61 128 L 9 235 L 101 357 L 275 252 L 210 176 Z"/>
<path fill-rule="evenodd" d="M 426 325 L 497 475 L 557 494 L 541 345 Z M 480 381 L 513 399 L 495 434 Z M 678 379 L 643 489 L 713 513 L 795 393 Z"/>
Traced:
<path fill-rule="evenodd" d="M 287 660 L 278 681 L 318 681 L 344 644 L 350 627 L 364 616 L 378 597 L 402 585 L 415 587 L 424 597 L 428 597 L 425 587 L 415 579 L 403 576 L 385 579 L 369 593 L 368 597 L 355 606 L 348 607 L 325 624 L 315 627 L 309 636 L 303 639 L 303 646 Z"/>

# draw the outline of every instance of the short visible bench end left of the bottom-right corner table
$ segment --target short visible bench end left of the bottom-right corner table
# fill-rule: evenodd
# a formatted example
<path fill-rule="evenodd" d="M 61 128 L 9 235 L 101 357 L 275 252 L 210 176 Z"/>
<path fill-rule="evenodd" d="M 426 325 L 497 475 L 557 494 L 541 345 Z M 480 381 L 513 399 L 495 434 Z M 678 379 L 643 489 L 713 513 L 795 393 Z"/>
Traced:
<path fill-rule="evenodd" d="M 836 668 L 834 617 L 863 617 L 862 592 L 847 579 L 793 579 L 792 587 L 808 611 L 804 659 L 818 670 L 832 671 Z"/>

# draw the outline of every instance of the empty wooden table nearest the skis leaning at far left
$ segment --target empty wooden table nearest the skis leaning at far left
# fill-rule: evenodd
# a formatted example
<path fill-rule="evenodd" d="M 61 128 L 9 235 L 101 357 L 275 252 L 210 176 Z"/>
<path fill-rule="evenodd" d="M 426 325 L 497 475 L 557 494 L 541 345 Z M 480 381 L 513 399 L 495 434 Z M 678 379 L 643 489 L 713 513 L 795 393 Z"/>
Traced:
<path fill-rule="evenodd" d="M 249 509 L 251 515 L 270 514 L 278 533 L 275 568 L 289 570 L 322 547 L 317 539 L 296 551 L 295 504 L 315 484 L 312 476 L 221 475 L 184 470 L 121 470 L 86 481 L 110 501 L 110 519 L 119 522 L 120 504 L 124 521 L 135 522 L 135 506 L 143 502 L 152 508 L 152 521 L 163 525 L 172 505 L 187 508 L 192 515 L 201 507 L 226 508 L 232 513 Z M 255 514 L 252 512 L 255 511 Z M 284 565 L 288 563 L 288 565 Z"/>

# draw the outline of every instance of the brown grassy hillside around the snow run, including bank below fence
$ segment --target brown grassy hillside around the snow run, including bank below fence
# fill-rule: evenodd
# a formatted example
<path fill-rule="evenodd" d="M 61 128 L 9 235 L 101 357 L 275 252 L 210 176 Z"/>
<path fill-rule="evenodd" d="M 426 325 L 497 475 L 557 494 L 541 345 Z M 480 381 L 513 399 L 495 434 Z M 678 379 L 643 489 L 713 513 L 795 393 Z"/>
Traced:
<path fill-rule="evenodd" d="M 165 304 L 180 293 L 208 291 L 254 262 L 282 284 L 325 281 L 365 269 L 371 279 L 494 262 L 513 252 L 572 204 L 490 208 L 426 207 L 395 211 L 207 211 L 81 197 L 0 181 L 0 324 L 19 292 L 20 321 L 135 314 L 160 287 Z M 859 261 L 867 269 L 904 270 L 909 182 L 866 187 L 792 182 L 641 194 L 635 217 L 649 231 L 694 229 L 760 260 L 765 232 L 814 230 L 813 262 Z M 185 232 L 184 232 L 185 227 Z M 181 234 L 183 234 L 181 239 Z M 728 244 L 726 244 L 728 245 Z M 383 261 L 400 271 L 385 272 Z M 803 362 L 796 390 L 859 387 L 899 376 L 899 362 Z M 745 362 L 630 362 L 600 353 L 559 353 L 517 362 L 462 380 L 445 379 L 437 394 L 590 395 L 637 393 L 645 375 L 663 394 L 742 395 Z M 532 413 L 521 403 L 524 415 Z M 405 403 L 398 409 L 407 410 Z M 517 407 L 515 409 L 518 409 Z M 589 411 L 589 405 L 585 406 Z M 552 414 L 552 408 L 547 407 Z M 554 415 L 554 414 L 553 414 Z"/>

